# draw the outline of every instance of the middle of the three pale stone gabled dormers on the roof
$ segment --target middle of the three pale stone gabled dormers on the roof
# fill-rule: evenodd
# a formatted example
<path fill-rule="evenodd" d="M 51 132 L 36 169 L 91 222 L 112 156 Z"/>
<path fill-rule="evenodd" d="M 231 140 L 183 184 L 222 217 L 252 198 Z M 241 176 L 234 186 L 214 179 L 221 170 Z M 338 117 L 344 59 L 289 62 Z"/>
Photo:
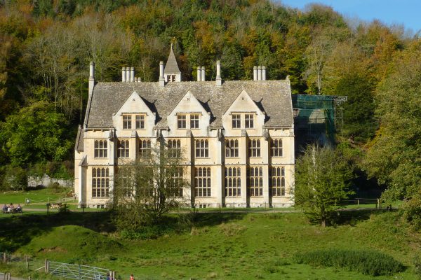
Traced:
<path fill-rule="evenodd" d="M 168 115 L 168 127 L 173 132 L 184 133 L 186 130 L 207 132 L 210 116 L 199 100 L 188 91 Z"/>

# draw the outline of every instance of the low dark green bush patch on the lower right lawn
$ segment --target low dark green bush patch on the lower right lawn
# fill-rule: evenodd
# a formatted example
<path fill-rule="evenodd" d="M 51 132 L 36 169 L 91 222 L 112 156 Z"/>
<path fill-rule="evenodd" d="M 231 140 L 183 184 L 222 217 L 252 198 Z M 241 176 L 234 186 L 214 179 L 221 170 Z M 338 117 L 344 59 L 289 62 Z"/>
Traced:
<path fill-rule="evenodd" d="M 295 262 L 314 266 L 346 268 L 371 276 L 392 275 L 405 267 L 389 255 L 376 251 L 328 249 L 295 255 Z"/>

